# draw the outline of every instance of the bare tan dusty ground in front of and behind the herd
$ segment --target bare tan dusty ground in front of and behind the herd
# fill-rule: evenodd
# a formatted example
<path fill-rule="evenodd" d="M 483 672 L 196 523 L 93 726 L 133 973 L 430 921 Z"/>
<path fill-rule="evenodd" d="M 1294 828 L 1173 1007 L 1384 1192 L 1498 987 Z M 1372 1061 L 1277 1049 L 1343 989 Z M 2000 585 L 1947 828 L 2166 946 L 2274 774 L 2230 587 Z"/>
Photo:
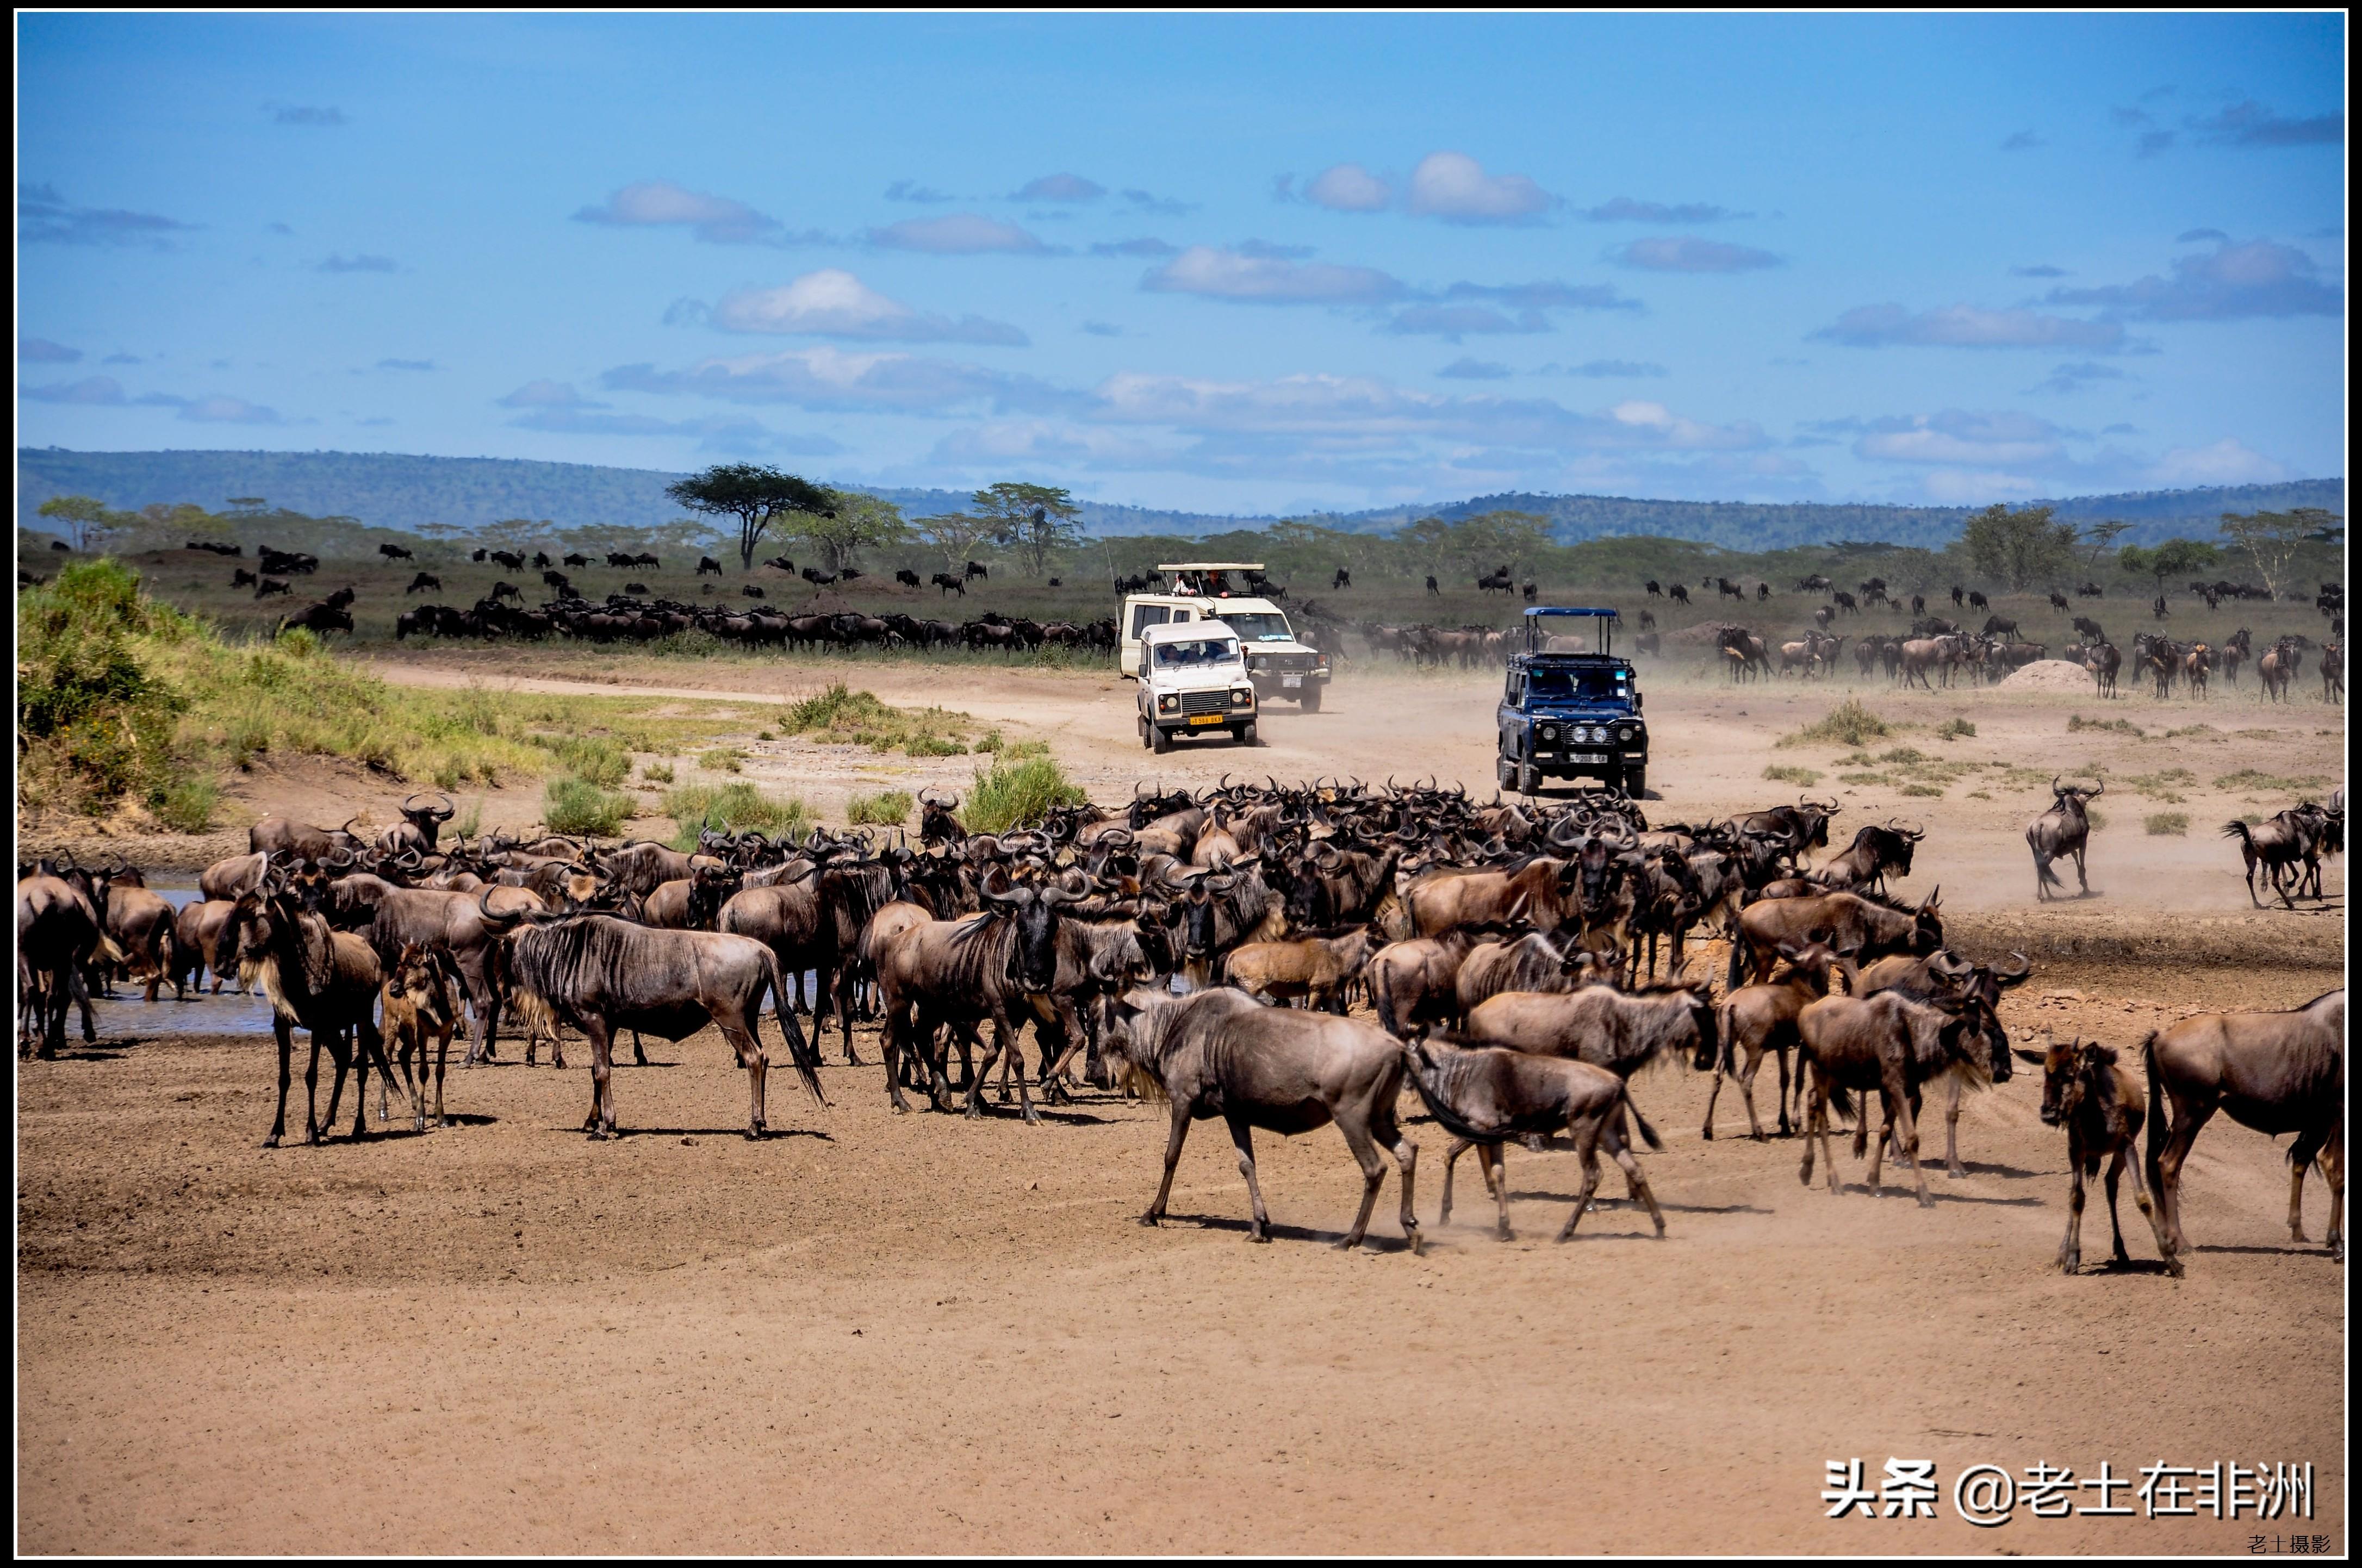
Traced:
<path fill-rule="evenodd" d="M 390 673 L 470 671 L 520 675 L 482 659 Z M 834 671 L 616 673 L 770 697 Z M 862 671 L 888 701 L 1049 739 L 1101 798 L 1155 777 L 1129 687 L 959 680 Z M 2341 782 L 2343 716 L 2319 704 L 2107 704 L 2149 732 L 2135 739 L 2069 734 L 2071 713 L 2102 711 L 2088 699 L 1866 692 L 1918 725 L 1871 751 L 2005 765 L 1930 798 L 1838 784 L 1845 749 L 1774 749 L 1842 692 L 1649 692 L 1656 817 L 1793 798 L 1760 777 L 1781 763 L 1831 775 L 1814 793 L 1840 796 L 1840 829 L 1925 822 L 1906 890 L 1942 883 L 1963 942 L 2041 961 L 2012 1030 L 2133 1046 L 2187 1008 L 2291 1006 L 2341 982 L 2343 897 L 2253 912 L 2213 834 L 2294 798 L 2218 777 Z M 1252 753 L 1183 751 L 1157 772 L 1436 772 L 1490 793 L 1490 694 L 1356 675 L 1320 716 L 1273 713 Z M 1953 716 L 1977 737 L 1934 741 Z M 2216 734 L 2159 734 L 2199 723 Z M 751 749 L 753 777 L 815 801 L 876 789 L 872 772 L 966 777 L 957 758 Z M 2095 763 L 2119 779 L 2100 897 L 2036 907 L 2020 831 L 2048 791 L 2008 767 Z M 2173 805 L 2187 838 L 2145 836 L 2161 805 L 2121 782 L 2168 767 L 2192 775 Z M 1970 1103 L 1970 1176 L 1937 1169 L 1920 1211 L 1892 1176 L 1868 1197 L 1842 1143 L 1845 1193 L 1800 1188 L 1800 1148 L 1746 1141 L 1734 1093 L 1703 1143 L 1705 1079 L 1651 1072 L 1637 1098 L 1668 1141 L 1642 1155 L 1663 1242 L 1618 1202 L 1552 1244 L 1580 1181 L 1566 1152 L 1512 1150 L 1514 1242 L 1490 1237 L 1469 1169 L 1438 1228 L 1443 1138 L 1417 1119 L 1427 1254 L 1401 1247 L 1389 1178 L 1372 1244 L 1344 1256 L 1323 1242 L 1358 1178 L 1332 1131 L 1261 1141 L 1280 1235 L 1247 1247 L 1219 1126 L 1190 1138 L 1174 1219 L 1131 1221 L 1162 1108 L 1094 1096 L 1035 1129 L 898 1119 L 879 1067 L 829 1067 L 829 1110 L 775 1082 L 784 1131 L 749 1145 L 713 1037 L 657 1058 L 619 1077 L 633 1136 L 614 1145 L 574 1131 L 576 1063 L 456 1072 L 463 1124 L 425 1138 L 276 1152 L 255 1148 L 269 1044 L 175 1034 L 172 1004 L 154 1032 L 19 1067 L 19 1547 L 2246 1551 L 2289 1523 L 2020 1511 L 1972 1530 L 1951 1478 L 1972 1462 L 2310 1459 L 2310 1530 L 2345 1549 L 2345 1278 L 2319 1249 L 2324 1193 L 2308 1185 L 2315 1242 L 2291 1244 L 2279 1150 L 2223 1122 L 2190 1164 L 2185 1280 L 2149 1266 L 2128 1200 L 2133 1268 L 2050 1270 L 2064 1141 L 2029 1077 Z M 2095 1193 L 2088 1259 L 2105 1237 Z M 1847 1457 L 1873 1478 L 1887 1457 L 1934 1459 L 1939 1518 L 1823 1521 L 1823 1464 Z"/>

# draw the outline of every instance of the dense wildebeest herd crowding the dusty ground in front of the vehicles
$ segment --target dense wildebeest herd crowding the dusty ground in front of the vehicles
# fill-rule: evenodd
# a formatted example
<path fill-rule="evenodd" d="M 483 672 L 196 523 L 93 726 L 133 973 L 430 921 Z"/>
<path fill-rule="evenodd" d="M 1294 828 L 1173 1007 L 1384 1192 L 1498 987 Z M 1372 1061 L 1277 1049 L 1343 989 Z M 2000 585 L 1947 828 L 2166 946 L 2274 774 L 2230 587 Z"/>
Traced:
<path fill-rule="evenodd" d="M 383 1119 L 397 1067 L 413 1126 L 444 1124 L 449 1041 L 465 1027 L 468 1060 L 491 1060 L 503 1023 L 524 1032 L 527 1065 L 546 1044 L 562 1067 L 565 1032 L 588 1041 L 583 1129 L 605 1138 L 619 1129 L 619 1034 L 645 1060 L 642 1034 L 678 1041 L 713 1025 L 746 1070 L 746 1133 L 761 1138 L 765 1004 L 822 1108 L 827 1030 L 836 1025 L 853 1065 L 853 1020 L 867 1015 L 895 1112 L 924 1096 L 940 1112 L 959 1098 L 966 1115 L 990 1115 L 994 1070 L 999 1103 L 1013 1091 L 1027 1122 L 1039 1122 L 1037 1093 L 1167 1100 L 1164 1174 L 1143 1223 L 1164 1214 L 1190 1122 L 1221 1117 L 1264 1240 L 1254 1131 L 1335 1122 L 1363 1174 L 1349 1247 L 1389 1157 L 1405 1240 L 1420 1244 L 1405 1089 L 1453 1138 L 1446 1221 L 1453 1162 L 1474 1148 L 1507 1235 L 1505 1145 L 1566 1133 L 1585 1176 L 1564 1240 L 1592 1202 L 1601 1152 L 1665 1230 L 1635 1155 L 1635 1136 L 1660 1148 L 1632 1086 L 1651 1063 L 1712 1072 L 1715 1093 L 1736 1082 L 1748 1131 L 1764 1138 L 1753 1084 L 1772 1056 L 1779 1131 L 1805 1138 L 1802 1181 L 1828 1162 L 1838 1190 L 1831 1124 L 1852 1117 L 1871 1190 L 1892 1150 L 1923 1204 L 1925 1096 L 1946 1100 L 1946 1167 L 1963 1174 L 1963 1096 L 2012 1074 L 1998 1006 L 2031 963 L 1951 947 L 1939 890 L 1885 893 L 1913 871 L 1920 829 L 1861 824 L 1814 864 L 1833 843 L 1833 801 L 1651 824 L 1616 793 L 1528 805 L 1434 784 L 1224 779 L 1195 793 L 1141 786 L 1122 808 L 1063 805 L 1009 834 L 971 834 L 957 812 L 957 796 L 928 793 L 907 841 L 706 831 L 676 850 L 446 838 L 451 803 L 411 796 L 378 834 L 269 817 L 246 855 L 205 869 L 203 900 L 180 912 L 125 867 L 45 860 L 19 867 L 19 1051 L 54 1056 L 76 1001 L 92 1039 L 90 989 L 118 975 L 144 980 L 154 1001 L 165 980 L 182 994 L 210 971 L 215 992 L 234 980 L 272 1008 L 272 1145 L 286 1131 L 293 1030 L 312 1039 L 305 1138 L 319 1143 L 350 1074 L 354 1133 L 371 1074 Z M 2343 848 L 2343 801 L 2334 827 L 2334 841 L 2308 841 L 2315 874 L 2317 855 Z M 2301 862 L 2268 864 L 2277 878 Z M 1694 961 L 1710 942 L 1727 942 L 1720 994 L 1717 966 Z M 1351 1011 L 1363 997 L 1365 1015 Z M 2343 1008 L 2338 989 L 2286 1013 L 2199 1013 L 2152 1034 L 2138 1046 L 2145 1103 L 2119 1051 L 2081 1039 L 2017 1051 L 2045 1074 L 2043 1119 L 2069 1133 L 2060 1263 L 2081 1259 L 2083 1181 L 2102 1159 L 2114 1223 L 2147 1124 L 2135 1200 L 2178 1273 L 2180 1171 L 2218 1110 L 2296 1133 L 2291 1235 L 2303 1240 L 2303 1171 L 2319 1164 L 2341 1254 Z M 335 1070 L 326 1117 L 324 1046 Z M 1712 1098 L 1703 1133 L 1715 1133 Z M 2114 1256 L 2126 1256 L 2121 1226 Z"/>

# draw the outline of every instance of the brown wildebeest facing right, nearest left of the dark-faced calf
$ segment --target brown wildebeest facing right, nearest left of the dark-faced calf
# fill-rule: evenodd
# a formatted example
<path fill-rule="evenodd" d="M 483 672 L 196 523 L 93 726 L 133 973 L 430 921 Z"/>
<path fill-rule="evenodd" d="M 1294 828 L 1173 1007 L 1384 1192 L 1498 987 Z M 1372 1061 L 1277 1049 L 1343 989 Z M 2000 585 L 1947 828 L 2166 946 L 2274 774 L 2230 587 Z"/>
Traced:
<path fill-rule="evenodd" d="M 1871 1195 L 1878 1195 L 1878 1164 L 1887 1150 L 1887 1138 L 1901 1150 L 1918 1185 L 1918 1202 L 1932 1209 L 1927 1197 L 1927 1174 L 1918 1159 L 1918 1124 L 1911 1105 L 1920 1086 L 1944 1072 L 1986 1072 L 1970 1041 L 1965 1018 L 1944 1013 L 1899 992 L 1878 997 L 1823 997 L 1809 1004 L 1795 1020 L 1797 1039 L 1805 1041 L 1802 1060 L 1812 1067 L 1812 1112 L 1805 1119 L 1805 1164 L 1797 1181 L 1812 1185 L 1814 1136 L 1821 1141 L 1821 1157 L 1828 1159 L 1828 1193 L 1838 1193 L 1838 1157 L 1828 1148 L 1828 1108 L 1852 1115 L 1847 1091 L 1878 1091 L 1885 1124 L 1878 1131 L 1878 1148 L 1871 1150 Z M 1871 1129 L 1871 1110 L 1861 1108 L 1854 1122 L 1854 1157 L 1861 1157 L 1864 1138 Z"/>

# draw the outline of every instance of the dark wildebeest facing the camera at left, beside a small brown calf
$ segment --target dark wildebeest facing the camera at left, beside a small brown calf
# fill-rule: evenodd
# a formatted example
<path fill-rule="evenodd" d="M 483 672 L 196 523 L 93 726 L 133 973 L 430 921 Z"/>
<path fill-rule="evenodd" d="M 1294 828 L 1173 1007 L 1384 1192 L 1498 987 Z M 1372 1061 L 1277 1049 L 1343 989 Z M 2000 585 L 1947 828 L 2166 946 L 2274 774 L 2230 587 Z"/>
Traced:
<path fill-rule="evenodd" d="M 345 1032 L 352 1030 L 359 1037 L 361 1082 L 352 1091 L 352 1136 L 359 1138 L 366 1122 L 368 1093 L 364 1091 L 371 1063 L 392 1082 L 373 1018 L 378 985 L 385 978 L 378 954 L 361 937 L 331 930 L 324 916 L 302 909 L 276 874 L 262 888 L 239 897 L 224 940 L 236 954 L 239 973 L 248 975 L 255 989 L 269 999 L 272 1034 L 279 1039 L 279 1112 L 272 1117 L 272 1133 L 262 1148 L 279 1148 L 279 1138 L 286 1133 L 295 1030 L 312 1037 L 312 1060 L 302 1074 L 305 1143 L 319 1143 L 324 1126 L 317 1103 L 321 1041 L 326 1039 L 335 1063 L 326 1119 L 326 1124 L 335 1124 L 345 1072 L 354 1065 Z"/>

